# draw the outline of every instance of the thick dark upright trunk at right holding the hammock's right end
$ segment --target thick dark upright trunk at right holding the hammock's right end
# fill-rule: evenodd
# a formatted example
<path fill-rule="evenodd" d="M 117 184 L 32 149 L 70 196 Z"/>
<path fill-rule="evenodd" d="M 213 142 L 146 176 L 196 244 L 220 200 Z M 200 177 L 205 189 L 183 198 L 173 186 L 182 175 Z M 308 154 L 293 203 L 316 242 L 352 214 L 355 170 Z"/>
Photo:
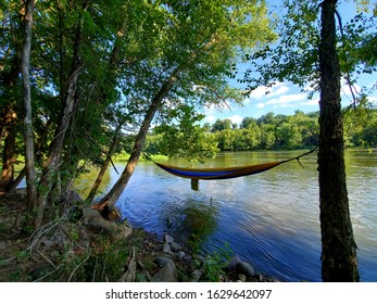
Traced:
<path fill-rule="evenodd" d="M 345 185 L 343 126 L 340 105 L 340 67 L 336 50 L 336 3 L 322 4 L 319 46 L 319 201 L 322 278 L 324 281 L 359 281 L 356 244 Z"/>

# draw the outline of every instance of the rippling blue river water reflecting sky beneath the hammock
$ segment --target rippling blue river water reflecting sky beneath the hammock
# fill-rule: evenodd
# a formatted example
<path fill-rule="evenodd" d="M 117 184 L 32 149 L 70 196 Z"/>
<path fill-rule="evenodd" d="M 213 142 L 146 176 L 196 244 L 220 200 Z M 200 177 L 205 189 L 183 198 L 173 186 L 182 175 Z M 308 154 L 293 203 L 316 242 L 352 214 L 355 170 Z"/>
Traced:
<path fill-rule="evenodd" d="M 289 152 L 222 153 L 206 167 L 281 161 Z M 377 281 L 377 153 L 345 152 L 348 192 L 359 246 L 362 281 Z M 139 163 L 117 206 L 124 217 L 148 231 L 196 240 L 204 251 L 225 249 L 249 261 L 256 271 L 282 281 L 321 281 L 321 228 L 316 153 L 257 175 L 200 181 Z M 178 160 L 167 163 L 185 165 Z M 117 163 L 123 170 L 125 164 Z M 105 192 L 116 181 L 111 169 Z M 335 190 L 336 191 L 336 190 Z"/>

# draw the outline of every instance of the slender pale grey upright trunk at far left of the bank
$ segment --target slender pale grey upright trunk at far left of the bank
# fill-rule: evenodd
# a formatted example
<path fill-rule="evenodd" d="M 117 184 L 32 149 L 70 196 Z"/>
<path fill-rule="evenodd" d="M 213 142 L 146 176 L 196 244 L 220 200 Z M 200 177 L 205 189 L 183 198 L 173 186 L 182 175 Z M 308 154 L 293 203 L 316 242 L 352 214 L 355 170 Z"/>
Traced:
<path fill-rule="evenodd" d="M 25 40 L 23 48 L 23 59 L 21 64 L 23 79 L 24 98 L 24 138 L 25 138 L 25 168 L 26 168 L 26 191 L 27 205 L 29 211 L 34 210 L 37 202 L 36 168 L 34 161 L 34 134 L 32 123 L 32 92 L 30 92 L 30 49 L 32 49 L 32 25 L 35 0 L 25 2 Z"/>

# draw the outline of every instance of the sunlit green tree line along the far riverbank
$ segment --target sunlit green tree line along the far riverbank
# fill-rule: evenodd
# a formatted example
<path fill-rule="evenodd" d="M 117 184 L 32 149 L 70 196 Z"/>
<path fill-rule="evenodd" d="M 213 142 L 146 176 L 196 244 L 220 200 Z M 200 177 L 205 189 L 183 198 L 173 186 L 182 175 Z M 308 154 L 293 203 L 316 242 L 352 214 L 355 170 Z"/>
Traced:
<path fill-rule="evenodd" d="M 212 125 L 205 123 L 190 129 L 185 129 L 185 124 L 169 124 L 150 132 L 144 152 L 204 161 L 200 156 L 213 156 L 216 151 L 312 149 L 318 145 L 318 117 L 319 112 L 296 111 L 294 115 L 271 112 L 259 118 L 244 117 L 240 125 L 230 119 L 217 119 Z M 377 145 L 377 111 L 373 106 L 345 109 L 343 124 L 345 148 L 372 149 Z M 192 149 L 192 136 L 197 151 Z M 125 151 L 129 152 L 129 149 Z"/>

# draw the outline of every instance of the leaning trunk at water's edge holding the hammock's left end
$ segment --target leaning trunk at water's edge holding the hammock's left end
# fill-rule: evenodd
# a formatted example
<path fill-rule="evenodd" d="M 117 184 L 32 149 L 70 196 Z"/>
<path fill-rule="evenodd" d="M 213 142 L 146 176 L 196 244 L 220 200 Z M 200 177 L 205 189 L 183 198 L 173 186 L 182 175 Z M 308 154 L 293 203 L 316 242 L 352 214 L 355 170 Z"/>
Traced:
<path fill-rule="evenodd" d="M 150 124 L 154 117 L 154 114 L 159 111 L 160 106 L 163 103 L 164 98 L 169 92 L 169 90 L 173 88 L 174 84 L 177 80 L 177 76 L 180 73 L 180 68 L 176 68 L 172 75 L 165 80 L 163 86 L 161 87 L 160 91 L 154 96 L 152 99 L 151 105 L 149 110 L 147 111 L 147 114 L 144 116 L 144 119 L 141 124 L 140 130 L 135 139 L 135 144 L 133 148 L 133 151 L 130 153 L 129 160 L 127 162 L 127 165 L 125 169 L 123 170 L 121 177 L 116 181 L 116 183 L 113 186 L 113 188 L 110 190 L 110 192 L 98 203 L 97 207 L 98 210 L 103 208 L 104 206 L 113 207 L 115 205 L 115 202 L 121 197 L 124 189 L 127 187 L 127 183 L 134 174 L 134 170 L 136 168 L 136 165 L 139 161 L 147 134 L 150 127 Z"/>

